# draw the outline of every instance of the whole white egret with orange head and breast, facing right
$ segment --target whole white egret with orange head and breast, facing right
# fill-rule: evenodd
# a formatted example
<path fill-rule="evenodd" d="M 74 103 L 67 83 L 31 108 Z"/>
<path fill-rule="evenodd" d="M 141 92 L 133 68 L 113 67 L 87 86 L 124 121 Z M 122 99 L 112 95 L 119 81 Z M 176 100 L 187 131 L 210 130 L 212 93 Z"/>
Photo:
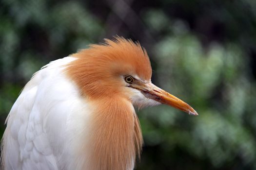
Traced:
<path fill-rule="evenodd" d="M 186 102 L 151 82 L 146 50 L 114 36 L 50 62 L 24 86 L 5 121 L 4 170 L 133 170 L 143 145 L 136 110 Z"/>

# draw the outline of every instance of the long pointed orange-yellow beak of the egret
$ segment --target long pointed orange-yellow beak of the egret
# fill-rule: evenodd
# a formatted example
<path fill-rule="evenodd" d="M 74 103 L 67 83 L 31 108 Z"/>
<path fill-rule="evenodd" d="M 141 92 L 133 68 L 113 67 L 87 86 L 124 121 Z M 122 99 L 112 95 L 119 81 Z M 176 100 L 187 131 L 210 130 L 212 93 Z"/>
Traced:
<path fill-rule="evenodd" d="M 140 90 L 141 93 L 149 99 L 153 99 L 163 104 L 173 106 L 179 110 L 188 113 L 189 115 L 198 116 L 197 112 L 189 104 L 183 102 L 174 95 L 171 95 L 170 93 L 162 90 L 161 88 L 152 83 L 139 83 L 132 86 Z"/>

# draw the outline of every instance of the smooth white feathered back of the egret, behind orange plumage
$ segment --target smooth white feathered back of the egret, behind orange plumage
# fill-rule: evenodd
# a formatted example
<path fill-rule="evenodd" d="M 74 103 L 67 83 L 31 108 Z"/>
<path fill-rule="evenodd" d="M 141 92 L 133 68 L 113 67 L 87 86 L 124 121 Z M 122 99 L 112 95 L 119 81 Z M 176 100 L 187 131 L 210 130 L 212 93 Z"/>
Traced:
<path fill-rule="evenodd" d="M 86 120 L 81 112 L 88 109 L 63 72 L 65 64 L 73 60 L 65 57 L 51 62 L 25 85 L 6 119 L 1 153 L 4 170 L 75 167 L 76 148 L 71 147 L 81 133 L 79 122 Z"/>

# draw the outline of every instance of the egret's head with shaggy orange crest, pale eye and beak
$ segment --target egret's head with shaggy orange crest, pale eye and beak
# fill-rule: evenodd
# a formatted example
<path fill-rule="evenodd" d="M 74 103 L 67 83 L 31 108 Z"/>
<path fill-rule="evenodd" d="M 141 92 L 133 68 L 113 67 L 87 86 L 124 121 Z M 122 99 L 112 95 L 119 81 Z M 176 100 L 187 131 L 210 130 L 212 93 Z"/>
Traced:
<path fill-rule="evenodd" d="M 138 43 L 115 37 L 73 56 L 78 60 L 70 64 L 68 72 L 87 97 L 127 98 L 138 108 L 164 103 L 198 115 L 190 105 L 151 83 L 149 57 Z"/>

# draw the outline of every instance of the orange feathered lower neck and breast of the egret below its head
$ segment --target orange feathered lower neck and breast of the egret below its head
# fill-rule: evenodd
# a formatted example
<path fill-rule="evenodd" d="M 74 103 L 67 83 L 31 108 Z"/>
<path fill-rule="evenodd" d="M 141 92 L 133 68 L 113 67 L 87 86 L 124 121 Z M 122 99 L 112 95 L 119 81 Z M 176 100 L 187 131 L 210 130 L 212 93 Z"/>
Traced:
<path fill-rule="evenodd" d="M 94 103 L 90 142 L 90 170 L 133 169 L 140 155 L 142 135 L 131 102 L 107 99 Z"/>

